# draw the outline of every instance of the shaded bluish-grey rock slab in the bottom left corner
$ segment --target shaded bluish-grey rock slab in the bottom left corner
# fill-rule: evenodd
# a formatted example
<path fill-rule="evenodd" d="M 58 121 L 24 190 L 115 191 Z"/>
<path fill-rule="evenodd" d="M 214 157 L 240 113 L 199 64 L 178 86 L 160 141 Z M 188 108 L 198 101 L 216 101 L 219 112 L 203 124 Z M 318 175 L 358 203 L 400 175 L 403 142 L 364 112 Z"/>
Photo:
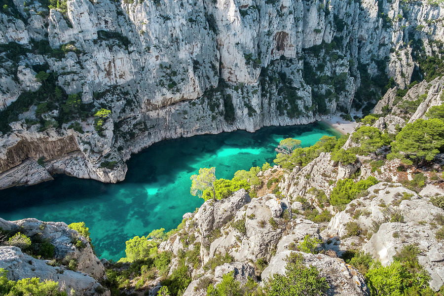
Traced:
<path fill-rule="evenodd" d="M 0 268 L 7 271 L 6 277 L 12 281 L 37 277 L 41 281 L 58 282 L 59 288 L 68 295 L 72 295 L 74 291 L 75 295 L 111 295 L 109 290 L 90 275 L 69 270 L 64 266 L 51 266 L 49 261 L 35 259 L 17 247 L 0 246 Z"/>

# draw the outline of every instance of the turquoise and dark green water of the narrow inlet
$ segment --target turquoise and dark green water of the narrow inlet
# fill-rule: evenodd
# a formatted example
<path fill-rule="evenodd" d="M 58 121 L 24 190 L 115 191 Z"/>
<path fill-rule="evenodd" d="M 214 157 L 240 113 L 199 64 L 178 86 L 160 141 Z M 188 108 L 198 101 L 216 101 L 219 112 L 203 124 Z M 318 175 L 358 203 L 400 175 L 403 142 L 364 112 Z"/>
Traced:
<path fill-rule="evenodd" d="M 34 186 L 0 191 L 0 217 L 6 220 L 84 221 L 102 258 L 124 257 L 125 241 L 160 227 L 170 230 L 182 215 L 203 200 L 191 196 L 189 177 L 201 167 L 216 167 L 216 177 L 231 179 L 237 170 L 249 170 L 268 161 L 284 138 L 314 144 L 323 135 L 337 135 L 320 124 L 265 127 L 256 133 L 236 131 L 156 143 L 128 161 L 126 179 L 103 184 L 64 175 Z"/>

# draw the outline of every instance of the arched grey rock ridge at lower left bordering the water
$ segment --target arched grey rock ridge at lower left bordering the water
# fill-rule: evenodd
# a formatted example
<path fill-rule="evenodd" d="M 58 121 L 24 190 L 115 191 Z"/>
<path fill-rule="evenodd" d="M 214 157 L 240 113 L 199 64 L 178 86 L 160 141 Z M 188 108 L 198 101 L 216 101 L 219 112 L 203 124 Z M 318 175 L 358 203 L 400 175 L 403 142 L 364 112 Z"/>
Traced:
<path fill-rule="evenodd" d="M 41 240 L 48 239 L 55 247 L 54 259 L 61 262 L 74 259 L 78 271 L 98 280 L 105 276 L 105 267 L 94 255 L 89 241 L 64 222 L 42 222 L 33 218 L 9 222 L 0 218 L 0 228 L 5 231 L 20 231 L 31 238 L 38 235 Z M 76 247 L 77 240 L 82 242 L 83 247 Z"/>

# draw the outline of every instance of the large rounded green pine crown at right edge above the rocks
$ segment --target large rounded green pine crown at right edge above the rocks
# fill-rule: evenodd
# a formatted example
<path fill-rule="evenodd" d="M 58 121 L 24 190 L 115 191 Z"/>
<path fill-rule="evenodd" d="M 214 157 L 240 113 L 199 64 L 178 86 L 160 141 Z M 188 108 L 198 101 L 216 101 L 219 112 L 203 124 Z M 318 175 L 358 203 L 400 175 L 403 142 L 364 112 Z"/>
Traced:
<path fill-rule="evenodd" d="M 407 164 L 432 160 L 444 146 L 444 122 L 437 118 L 418 119 L 407 125 L 396 135 L 392 153 L 387 159 L 401 158 Z"/>

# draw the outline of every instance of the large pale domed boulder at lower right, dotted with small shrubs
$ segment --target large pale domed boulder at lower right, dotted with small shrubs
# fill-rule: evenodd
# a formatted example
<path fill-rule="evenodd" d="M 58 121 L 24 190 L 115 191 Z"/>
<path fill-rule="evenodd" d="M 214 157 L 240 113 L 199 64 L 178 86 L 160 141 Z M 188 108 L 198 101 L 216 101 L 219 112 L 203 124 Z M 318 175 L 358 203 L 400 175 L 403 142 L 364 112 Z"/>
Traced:
<path fill-rule="evenodd" d="M 439 290 L 444 279 L 444 248 L 436 234 L 440 227 L 437 219 L 444 217 L 444 211 L 433 206 L 427 195 L 444 191 L 433 185 L 423 190 L 425 195 L 421 196 L 401 184 L 371 186 L 363 197 L 337 213 L 321 233 L 330 241 L 326 247 L 338 254 L 359 247 L 387 265 L 403 246 L 417 246 L 421 252 L 418 260 L 432 278 L 430 286 Z M 356 233 L 350 237 L 348 223 L 356 223 L 359 237 Z"/>

